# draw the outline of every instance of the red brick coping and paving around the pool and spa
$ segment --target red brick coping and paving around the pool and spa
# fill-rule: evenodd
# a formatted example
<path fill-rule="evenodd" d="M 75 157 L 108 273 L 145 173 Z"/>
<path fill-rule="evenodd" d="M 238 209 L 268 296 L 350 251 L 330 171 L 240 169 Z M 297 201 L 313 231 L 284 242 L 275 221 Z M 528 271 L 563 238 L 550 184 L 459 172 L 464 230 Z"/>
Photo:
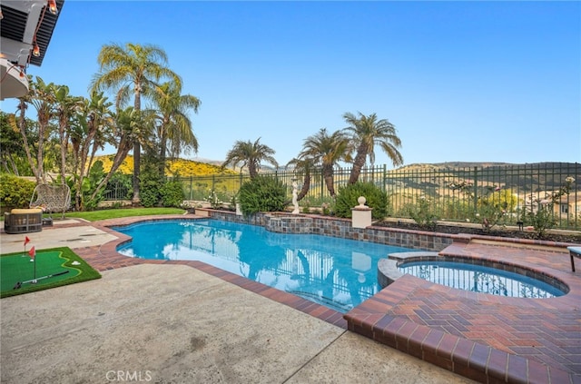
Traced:
<path fill-rule="evenodd" d="M 188 265 L 468 379 L 487 383 L 581 382 L 581 274 L 570 271 L 568 252 L 562 244 L 516 241 L 517 246 L 508 246 L 506 239 L 460 235 L 452 236 L 450 244 L 440 252 L 491 261 L 508 258 L 510 262 L 546 271 L 570 288 L 560 298 L 501 298 L 448 289 L 407 275 L 343 315 L 201 261 L 146 261 L 123 256 L 116 248 L 131 239 L 110 228 L 134 222 L 196 218 L 199 217 L 165 215 L 87 223 L 113 234 L 117 240 L 74 251 L 99 271 L 142 263 Z"/>

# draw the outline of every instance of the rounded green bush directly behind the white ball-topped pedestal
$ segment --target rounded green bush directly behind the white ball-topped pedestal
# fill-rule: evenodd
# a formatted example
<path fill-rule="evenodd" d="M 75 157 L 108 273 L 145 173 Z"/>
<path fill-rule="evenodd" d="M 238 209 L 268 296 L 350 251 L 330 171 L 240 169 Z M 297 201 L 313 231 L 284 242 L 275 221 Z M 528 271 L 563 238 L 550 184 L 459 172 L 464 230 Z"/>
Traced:
<path fill-rule="evenodd" d="M 372 182 L 356 182 L 339 189 L 335 203 L 335 214 L 338 217 L 351 218 L 351 209 L 359 202 L 359 196 L 367 199 L 366 205 L 373 208 L 371 218 L 382 220 L 388 215 L 388 195 Z"/>

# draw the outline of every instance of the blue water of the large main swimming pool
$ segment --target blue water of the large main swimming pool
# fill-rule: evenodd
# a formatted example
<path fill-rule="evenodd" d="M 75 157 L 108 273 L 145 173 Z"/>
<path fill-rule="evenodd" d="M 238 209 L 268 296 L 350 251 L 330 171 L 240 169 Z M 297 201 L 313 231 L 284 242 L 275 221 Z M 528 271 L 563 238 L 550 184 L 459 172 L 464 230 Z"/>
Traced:
<path fill-rule="evenodd" d="M 117 249 L 123 255 L 203 261 L 343 313 L 380 290 L 379 259 L 413 251 L 216 220 L 143 222 L 114 230 L 133 238 Z"/>

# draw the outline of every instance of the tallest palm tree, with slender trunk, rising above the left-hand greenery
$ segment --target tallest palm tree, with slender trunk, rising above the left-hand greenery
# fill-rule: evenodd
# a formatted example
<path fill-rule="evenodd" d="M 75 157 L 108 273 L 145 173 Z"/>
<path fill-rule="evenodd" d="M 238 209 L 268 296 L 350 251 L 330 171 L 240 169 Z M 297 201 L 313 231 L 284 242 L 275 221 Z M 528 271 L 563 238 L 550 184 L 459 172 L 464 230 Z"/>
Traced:
<path fill-rule="evenodd" d="M 100 72 L 94 75 L 92 89 L 100 91 L 110 89 L 116 92 L 116 106 L 119 109 L 133 94 L 133 110 L 140 113 L 142 95 L 149 97 L 161 79 L 170 79 L 182 86 L 180 76 L 167 67 L 167 54 L 153 44 L 120 44 L 103 45 L 97 56 L 101 66 Z M 147 132 L 143 127 L 134 127 L 133 135 L 133 204 L 140 202 L 139 176 L 141 163 L 141 142 L 146 140 Z"/>

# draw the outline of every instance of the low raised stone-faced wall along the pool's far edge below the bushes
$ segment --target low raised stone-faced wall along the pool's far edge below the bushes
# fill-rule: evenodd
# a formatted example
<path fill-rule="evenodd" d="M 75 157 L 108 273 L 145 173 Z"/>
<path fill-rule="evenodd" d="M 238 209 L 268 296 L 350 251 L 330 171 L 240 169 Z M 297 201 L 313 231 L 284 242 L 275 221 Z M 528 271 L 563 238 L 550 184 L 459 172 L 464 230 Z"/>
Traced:
<path fill-rule="evenodd" d="M 196 211 L 197 212 L 197 211 Z M 207 209 L 209 217 L 223 222 L 241 222 L 260 225 L 268 231 L 281 233 L 313 233 L 344 239 L 379 242 L 425 251 L 442 251 L 452 243 L 453 236 L 446 233 L 409 231 L 396 228 L 351 228 L 350 219 L 329 216 L 271 212 L 251 216 L 237 216 L 234 212 Z"/>

